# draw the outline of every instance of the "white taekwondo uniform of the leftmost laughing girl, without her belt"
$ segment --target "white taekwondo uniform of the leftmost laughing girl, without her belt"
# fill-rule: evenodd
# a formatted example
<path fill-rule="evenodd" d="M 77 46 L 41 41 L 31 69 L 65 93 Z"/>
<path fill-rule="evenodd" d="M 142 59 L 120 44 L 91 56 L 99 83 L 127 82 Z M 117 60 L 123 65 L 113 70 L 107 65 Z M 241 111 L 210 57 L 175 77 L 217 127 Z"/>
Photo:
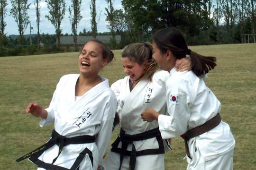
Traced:
<path fill-rule="evenodd" d="M 110 142 L 117 100 L 109 87 L 108 79 L 101 77 L 100 84 L 75 101 L 75 85 L 78 77 L 77 74 L 61 77 L 52 101 L 46 109 L 47 119 L 41 119 L 40 126 L 54 123 L 55 131 L 65 137 L 96 135 L 95 143 L 65 145 L 54 165 L 70 169 L 79 153 L 88 148 L 93 155 L 93 166 L 89 155 L 86 154 L 79 170 L 97 170 L 98 165 L 102 164 L 102 157 Z M 58 151 L 59 147 L 55 144 L 38 159 L 52 163 Z"/>

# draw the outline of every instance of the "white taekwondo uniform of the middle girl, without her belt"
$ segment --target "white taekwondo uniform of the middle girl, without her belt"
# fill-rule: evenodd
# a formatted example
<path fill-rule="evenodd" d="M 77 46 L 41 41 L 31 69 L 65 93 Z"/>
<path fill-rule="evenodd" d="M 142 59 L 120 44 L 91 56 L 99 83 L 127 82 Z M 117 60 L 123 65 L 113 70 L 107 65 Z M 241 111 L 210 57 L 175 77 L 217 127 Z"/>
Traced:
<path fill-rule="evenodd" d="M 130 91 L 129 76 L 113 83 L 111 89 L 118 99 L 120 125 L 129 135 L 139 134 L 158 127 L 157 121 L 150 123 L 141 119 L 141 113 L 147 108 L 154 108 L 160 114 L 166 113 L 165 81 L 169 77 L 167 71 L 157 71 L 152 81 L 142 79 Z M 136 151 L 159 148 L 156 138 L 133 142 Z M 121 147 L 121 142 L 119 143 Z M 128 144 L 131 151 L 132 144 Z M 129 156 L 124 156 L 121 170 L 129 169 Z M 106 170 L 118 170 L 120 165 L 120 154 L 111 152 L 106 159 Z M 164 154 L 137 156 L 135 170 L 164 170 Z"/>

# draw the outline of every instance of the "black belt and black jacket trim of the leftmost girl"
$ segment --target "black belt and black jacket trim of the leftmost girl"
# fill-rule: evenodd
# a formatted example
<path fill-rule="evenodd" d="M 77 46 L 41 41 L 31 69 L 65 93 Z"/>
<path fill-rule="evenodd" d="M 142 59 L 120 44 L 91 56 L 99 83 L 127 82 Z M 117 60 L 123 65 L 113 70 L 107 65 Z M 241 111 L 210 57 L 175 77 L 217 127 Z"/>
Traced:
<path fill-rule="evenodd" d="M 38 165 L 38 167 L 41 167 L 41 168 L 46 168 L 48 170 L 68 170 L 66 168 L 63 168 L 63 167 L 60 167 L 57 165 L 53 165 L 53 163 L 57 160 L 60 153 L 62 152 L 63 147 L 68 144 L 87 144 L 87 143 L 94 143 L 94 142 L 95 142 L 95 136 L 84 135 L 84 136 L 65 137 L 65 136 L 58 134 L 55 130 L 53 130 L 52 138 L 46 144 L 43 144 L 42 146 L 38 147 L 34 151 L 27 153 L 26 155 L 18 158 L 16 161 L 19 162 L 19 161 L 29 158 L 30 161 L 33 161 L 34 163 L 36 163 Z M 53 160 L 52 164 L 45 163 L 38 159 L 38 157 L 42 153 L 44 153 L 47 149 L 54 146 L 55 144 L 57 144 L 59 146 L 59 152 L 58 152 L 57 157 Z M 86 153 L 88 153 L 88 155 L 91 159 L 91 164 L 93 164 L 92 153 L 88 148 L 85 148 L 82 151 L 82 153 L 79 154 L 79 156 L 78 156 L 77 160 L 74 162 L 71 170 L 73 170 L 73 168 L 75 168 L 75 166 L 76 166 L 76 168 L 79 166 L 80 162 L 82 161 L 82 159 L 84 158 Z"/>

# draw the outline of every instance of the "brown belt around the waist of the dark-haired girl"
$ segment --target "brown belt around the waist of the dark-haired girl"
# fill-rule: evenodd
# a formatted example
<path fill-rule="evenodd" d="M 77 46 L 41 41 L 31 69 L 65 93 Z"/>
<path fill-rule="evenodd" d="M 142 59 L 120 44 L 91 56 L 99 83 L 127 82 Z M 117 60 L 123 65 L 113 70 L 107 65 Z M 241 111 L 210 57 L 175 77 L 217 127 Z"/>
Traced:
<path fill-rule="evenodd" d="M 191 139 L 192 137 L 195 137 L 195 136 L 199 136 L 199 135 L 201 135 L 205 132 L 210 131 L 214 127 L 217 127 L 219 125 L 220 121 L 221 121 L 220 115 L 219 115 L 219 113 L 217 113 L 216 116 L 214 116 L 213 118 L 211 118 L 210 120 L 208 120 L 204 124 L 202 124 L 198 127 L 194 127 L 192 129 L 188 130 L 183 135 L 181 135 L 181 137 L 184 139 L 184 142 L 185 142 L 186 153 L 187 153 L 187 155 L 190 159 L 192 159 L 192 158 L 190 156 L 189 148 L 188 148 L 189 139 Z"/>

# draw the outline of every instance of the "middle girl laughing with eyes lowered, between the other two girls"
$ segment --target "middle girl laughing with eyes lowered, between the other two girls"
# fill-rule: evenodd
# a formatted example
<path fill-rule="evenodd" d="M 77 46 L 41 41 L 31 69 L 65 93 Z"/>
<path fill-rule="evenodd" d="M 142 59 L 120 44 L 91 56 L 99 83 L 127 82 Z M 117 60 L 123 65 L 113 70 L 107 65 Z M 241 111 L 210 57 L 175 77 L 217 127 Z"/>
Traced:
<path fill-rule="evenodd" d="M 165 141 L 157 121 L 146 123 L 140 114 L 154 108 L 166 112 L 165 81 L 167 71 L 157 70 L 150 43 L 132 43 L 122 53 L 124 72 L 128 75 L 111 85 L 118 99 L 121 130 L 106 159 L 106 170 L 165 170 Z M 177 61 L 180 69 L 191 61 Z M 167 142 L 167 141 L 166 141 Z"/>

